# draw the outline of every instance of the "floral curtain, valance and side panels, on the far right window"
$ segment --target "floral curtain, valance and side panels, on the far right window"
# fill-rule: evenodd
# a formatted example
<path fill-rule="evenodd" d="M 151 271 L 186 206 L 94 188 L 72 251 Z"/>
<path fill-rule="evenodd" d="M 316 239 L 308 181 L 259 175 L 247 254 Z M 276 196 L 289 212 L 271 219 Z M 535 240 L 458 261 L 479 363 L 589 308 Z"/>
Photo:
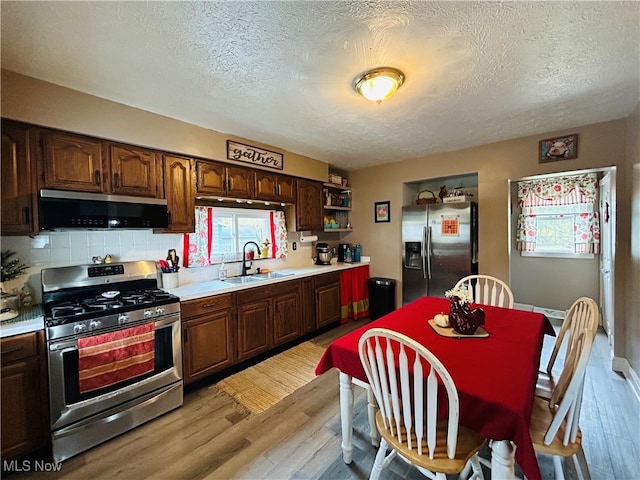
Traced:
<path fill-rule="evenodd" d="M 598 177 L 595 173 L 518 182 L 518 204 L 522 213 L 518 217 L 516 248 L 536 251 L 539 216 L 562 218 L 571 215 L 574 253 L 600 253 L 597 197 Z"/>

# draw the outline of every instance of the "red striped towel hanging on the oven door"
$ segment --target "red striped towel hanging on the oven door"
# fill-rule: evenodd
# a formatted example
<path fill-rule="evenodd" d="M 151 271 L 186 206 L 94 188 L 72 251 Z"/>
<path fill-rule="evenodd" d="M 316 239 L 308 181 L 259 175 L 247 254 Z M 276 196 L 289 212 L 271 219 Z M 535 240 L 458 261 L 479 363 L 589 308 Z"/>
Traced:
<path fill-rule="evenodd" d="M 154 323 L 78 339 L 80 393 L 108 387 L 154 369 Z"/>

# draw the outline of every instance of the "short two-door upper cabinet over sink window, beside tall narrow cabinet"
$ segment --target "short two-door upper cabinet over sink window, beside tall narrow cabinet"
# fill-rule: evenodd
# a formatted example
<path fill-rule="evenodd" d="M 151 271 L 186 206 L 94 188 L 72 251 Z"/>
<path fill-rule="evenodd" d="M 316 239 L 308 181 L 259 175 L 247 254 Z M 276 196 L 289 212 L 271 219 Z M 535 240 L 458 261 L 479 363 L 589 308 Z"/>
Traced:
<path fill-rule="evenodd" d="M 254 171 L 223 163 L 196 162 L 196 192 L 220 197 L 254 198 Z"/>

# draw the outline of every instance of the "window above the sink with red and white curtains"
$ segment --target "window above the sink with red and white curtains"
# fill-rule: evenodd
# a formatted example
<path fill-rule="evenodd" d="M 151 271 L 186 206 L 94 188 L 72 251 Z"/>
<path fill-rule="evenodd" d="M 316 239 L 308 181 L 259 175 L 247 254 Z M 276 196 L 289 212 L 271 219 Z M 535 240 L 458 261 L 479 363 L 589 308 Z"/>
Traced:
<path fill-rule="evenodd" d="M 284 212 L 228 207 L 202 207 L 195 209 L 194 233 L 184 235 L 185 266 L 212 265 L 222 261 L 240 261 L 247 248 L 261 258 L 286 258 L 287 229 Z"/>

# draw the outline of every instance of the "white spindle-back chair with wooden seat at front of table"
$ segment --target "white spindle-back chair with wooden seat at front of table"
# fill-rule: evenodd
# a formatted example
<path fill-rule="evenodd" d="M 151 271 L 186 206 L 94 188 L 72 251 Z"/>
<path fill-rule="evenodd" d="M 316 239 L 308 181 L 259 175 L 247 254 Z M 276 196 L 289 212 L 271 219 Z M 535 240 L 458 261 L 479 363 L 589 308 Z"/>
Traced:
<path fill-rule="evenodd" d="M 362 335 L 359 353 L 379 407 L 380 448 L 369 478 L 377 480 L 396 455 L 432 479 L 459 474 L 468 462 L 472 478 L 483 478 L 478 451 L 486 440 L 458 425 L 458 392 L 440 360 L 409 337 L 383 328 Z M 445 419 L 437 418 L 440 387 L 448 401 Z"/>

